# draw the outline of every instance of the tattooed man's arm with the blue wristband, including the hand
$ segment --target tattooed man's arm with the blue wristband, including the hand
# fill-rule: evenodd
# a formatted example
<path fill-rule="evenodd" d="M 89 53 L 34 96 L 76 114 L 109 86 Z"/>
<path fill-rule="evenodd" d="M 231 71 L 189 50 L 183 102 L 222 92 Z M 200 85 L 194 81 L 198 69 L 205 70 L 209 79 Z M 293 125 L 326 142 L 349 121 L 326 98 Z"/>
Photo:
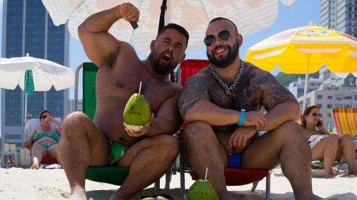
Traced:
<path fill-rule="evenodd" d="M 216 80 L 211 72 L 204 68 L 186 80 L 178 98 L 178 108 L 186 123 L 204 121 L 210 125 L 223 126 L 237 124 L 241 112 L 218 107 L 211 102 L 211 93 L 215 93 Z M 247 112 L 243 125 L 266 125 L 266 117 L 260 112 Z"/>

